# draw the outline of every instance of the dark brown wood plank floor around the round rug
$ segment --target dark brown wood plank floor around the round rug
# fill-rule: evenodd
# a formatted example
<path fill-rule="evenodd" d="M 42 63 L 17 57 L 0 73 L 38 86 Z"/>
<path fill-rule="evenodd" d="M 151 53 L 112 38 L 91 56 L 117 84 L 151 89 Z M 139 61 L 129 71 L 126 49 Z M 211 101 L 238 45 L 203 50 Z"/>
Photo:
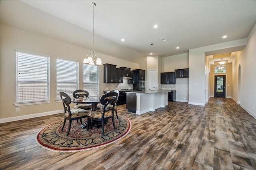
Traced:
<path fill-rule="evenodd" d="M 130 133 L 80 152 L 52 152 L 36 144 L 36 134 L 63 114 L 2 123 L 0 169 L 256 169 L 256 119 L 232 99 L 210 98 L 206 106 L 169 102 L 142 115 L 121 105 L 118 114 L 130 119 Z"/>

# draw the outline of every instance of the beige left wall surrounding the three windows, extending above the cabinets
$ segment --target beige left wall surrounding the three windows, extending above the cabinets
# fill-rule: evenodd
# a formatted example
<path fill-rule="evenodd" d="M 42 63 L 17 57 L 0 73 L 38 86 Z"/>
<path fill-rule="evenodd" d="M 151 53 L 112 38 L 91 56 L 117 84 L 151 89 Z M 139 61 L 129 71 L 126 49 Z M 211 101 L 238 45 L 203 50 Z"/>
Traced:
<path fill-rule="evenodd" d="M 81 73 L 83 71 L 82 61 L 92 51 L 2 24 L 0 24 L 0 30 L 0 119 L 36 113 L 48 114 L 60 110 L 63 112 L 62 104 L 55 101 L 56 58 L 79 62 L 79 72 Z M 20 111 L 16 112 L 16 107 L 13 105 L 16 96 L 16 49 L 50 56 L 51 101 L 49 104 L 19 106 Z M 139 68 L 139 64 L 136 63 L 97 53 L 97 51 L 96 54 L 100 56 L 102 63 L 115 64 L 117 67 Z M 82 74 L 79 77 L 79 87 L 83 88 Z M 103 65 L 100 66 L 100 94 L 103 94 Z"/>

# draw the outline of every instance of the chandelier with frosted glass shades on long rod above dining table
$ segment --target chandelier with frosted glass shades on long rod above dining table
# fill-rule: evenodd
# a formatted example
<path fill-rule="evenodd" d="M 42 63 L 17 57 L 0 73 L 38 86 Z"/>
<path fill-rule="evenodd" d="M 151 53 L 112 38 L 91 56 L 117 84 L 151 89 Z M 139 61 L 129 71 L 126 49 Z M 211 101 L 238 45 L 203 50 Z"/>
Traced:
<path fill-rule="evenodd" d="M 93 29 L 92 29 L 92 53 L 90 55 L 86 55 L 86 58 L 84 59 L 83 63 L 91 64 L 91 65 L 101 65 L 102 61 L 98 55 L 94 55 L 94 6 L 96 4 L 92 2 L 93 6 Z M 96 59 L 97 58 L 97 59 Z"/>

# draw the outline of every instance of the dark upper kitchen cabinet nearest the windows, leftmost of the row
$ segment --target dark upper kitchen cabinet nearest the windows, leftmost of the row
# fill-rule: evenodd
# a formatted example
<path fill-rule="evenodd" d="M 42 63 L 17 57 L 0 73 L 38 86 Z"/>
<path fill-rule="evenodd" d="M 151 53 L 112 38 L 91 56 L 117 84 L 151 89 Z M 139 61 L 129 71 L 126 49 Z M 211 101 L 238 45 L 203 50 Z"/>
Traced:
<path fill-rule="evenodd" d="M 104 65 L 104 83 L 116 82 L 116 65 L 103 64 Z"/>

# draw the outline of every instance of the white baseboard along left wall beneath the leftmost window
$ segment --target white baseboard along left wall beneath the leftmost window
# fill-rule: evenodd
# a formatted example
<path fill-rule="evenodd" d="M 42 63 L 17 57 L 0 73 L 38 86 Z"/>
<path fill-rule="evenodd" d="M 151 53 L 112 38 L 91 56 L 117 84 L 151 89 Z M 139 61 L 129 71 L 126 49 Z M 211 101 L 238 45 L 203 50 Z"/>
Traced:
<path fill-rule="evenodd" d="M 55 110 L 55 111 L 47 111 L 47 112 L 43 112 L 43 113 L 34 113 L 34 114 L 30 114 L 30 115 L 7 117 L 7 118 L 0 119 L 0 123 L 30 119 L 30 118 L 34 118 L 34 117 L 41 117 L 41 116 L 47 116 L 47 115 L 54 115 L 54 114 L 58 114 L 58 113 L 64 113 L 63 109 Z"/>

